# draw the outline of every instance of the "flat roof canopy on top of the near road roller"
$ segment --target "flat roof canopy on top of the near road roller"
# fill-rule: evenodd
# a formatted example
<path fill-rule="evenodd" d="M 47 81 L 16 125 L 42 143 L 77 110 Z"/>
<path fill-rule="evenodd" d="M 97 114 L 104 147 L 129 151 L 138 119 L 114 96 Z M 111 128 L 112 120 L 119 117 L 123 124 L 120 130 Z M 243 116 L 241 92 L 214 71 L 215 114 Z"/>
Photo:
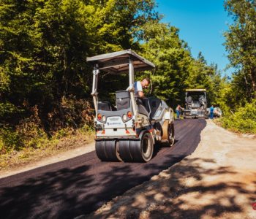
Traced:
<path fill-rule="evenodd" d="M 86 58 L 94 64 L 96 69 L 101 72 L 113 74 L 129 73 L 129 62 L 132 61 L 134 72 L 154 69 L 154 64 L 141 57 L 132 50 L 122 50 L 115 53 L 106 53 Z"/>

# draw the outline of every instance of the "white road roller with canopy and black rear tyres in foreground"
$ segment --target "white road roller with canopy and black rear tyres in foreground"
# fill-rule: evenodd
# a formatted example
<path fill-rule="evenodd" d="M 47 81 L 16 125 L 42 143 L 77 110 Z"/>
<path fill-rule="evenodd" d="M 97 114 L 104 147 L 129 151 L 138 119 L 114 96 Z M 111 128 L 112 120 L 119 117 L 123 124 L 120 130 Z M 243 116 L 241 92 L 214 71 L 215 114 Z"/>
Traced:
<path fill-rule="evenodd" d="M 94 65 L 91 95 L 96 113 L 95 150 L 101 161 L 148 162 L 154 145 L 173 146 L 173 109 L 157 97 L 135 95 L 135 72 L 154 69 L 153 63 L 132 50 L 96 55 L 86 61 Z M 113 97 L 114 107 L 98 98 L 100 74 L 129 74 L 128 88 L 116 91 Z"/>

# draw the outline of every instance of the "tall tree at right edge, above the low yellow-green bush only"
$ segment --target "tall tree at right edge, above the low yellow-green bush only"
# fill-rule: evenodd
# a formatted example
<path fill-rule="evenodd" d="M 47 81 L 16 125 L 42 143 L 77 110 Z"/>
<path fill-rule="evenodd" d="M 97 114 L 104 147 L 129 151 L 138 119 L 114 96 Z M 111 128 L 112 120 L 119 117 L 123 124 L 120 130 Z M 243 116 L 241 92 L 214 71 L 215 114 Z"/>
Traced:
<path fill-rule="evenodd" d="M 232 87 L 245 104 L 256 98 L 256 1 L 226 0 L 225 8 L 234 20 L 225 32 L 230 65 L 237 69 Z"/>

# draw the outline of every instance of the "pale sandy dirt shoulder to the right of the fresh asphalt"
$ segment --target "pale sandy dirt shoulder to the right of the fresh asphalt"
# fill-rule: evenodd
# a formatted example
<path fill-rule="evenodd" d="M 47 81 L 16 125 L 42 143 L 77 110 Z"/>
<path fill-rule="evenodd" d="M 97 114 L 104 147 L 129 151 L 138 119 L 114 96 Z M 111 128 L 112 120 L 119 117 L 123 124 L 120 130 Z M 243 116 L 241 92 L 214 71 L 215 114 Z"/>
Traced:
<path fill-rule="evenodd" d="M 255 147 L 208 120 L 195 153 L 78 218 L 256 218 Z"/>

